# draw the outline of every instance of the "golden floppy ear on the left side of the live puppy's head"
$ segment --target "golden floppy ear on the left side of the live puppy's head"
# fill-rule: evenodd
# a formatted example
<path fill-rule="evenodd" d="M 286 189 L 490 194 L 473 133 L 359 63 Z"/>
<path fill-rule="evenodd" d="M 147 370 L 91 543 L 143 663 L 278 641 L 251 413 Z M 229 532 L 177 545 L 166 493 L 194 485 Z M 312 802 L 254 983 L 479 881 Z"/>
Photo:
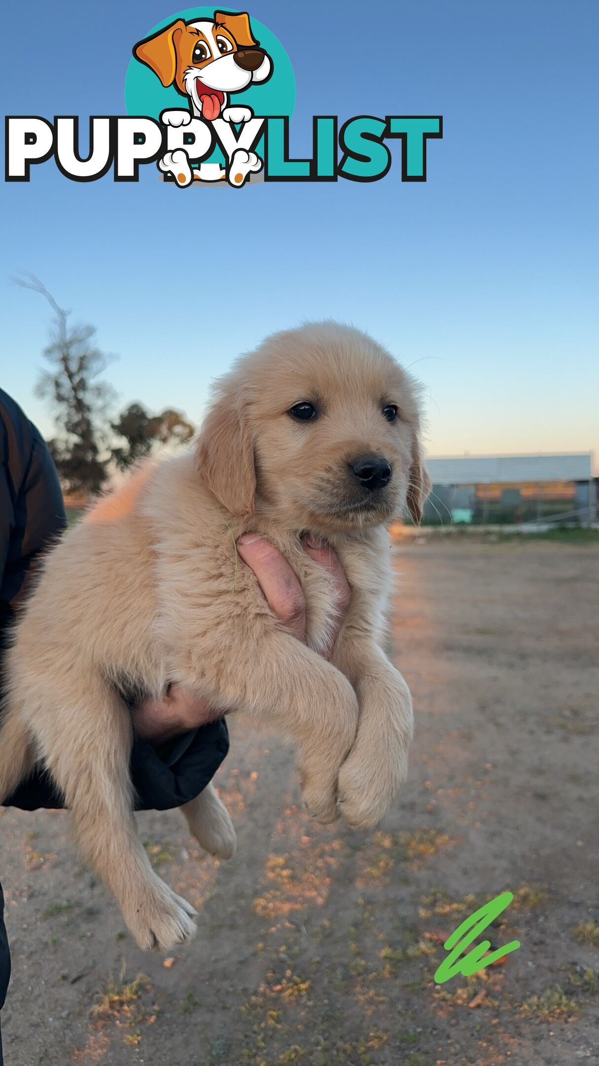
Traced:
<path fill-rule="evenodd" d="M 243 405 L 227 395 L 209 411 L 196 448 L 199 477 L 233 515 L 254 511 L 256 469 L 254 443 Z"/>

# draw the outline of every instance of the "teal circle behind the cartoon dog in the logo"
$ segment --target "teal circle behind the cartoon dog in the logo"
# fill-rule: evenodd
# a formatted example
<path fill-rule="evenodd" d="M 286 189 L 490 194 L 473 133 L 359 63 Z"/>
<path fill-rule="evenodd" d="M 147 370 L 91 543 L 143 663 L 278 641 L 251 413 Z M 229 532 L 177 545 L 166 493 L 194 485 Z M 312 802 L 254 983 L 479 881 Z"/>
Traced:
<path fill-rule="evenodd" d="M 158 22 L 147 33 L 142 33 L 139 39 L 142 41 L 144 37 L 157 33 L 158 30 L 163 30 L 165 26 L 171 26 L 177 18 L 182 18 L 185 22 L 200 18 L 214 18 L 214 12 L 222 10 L 222 7 L 185 7 L 183 11 L 176 11 L 162 22 Z M 252 108 L 256 115 L 288 115 L 291 118 L 295 107 L 295 77 L 289 55 L 274 33 L 252 15 L 249 16 L 249 25 L 254 36 L 260 42 L 260 47 L 269 53 L 273 61 L 273 72 L 265 84 L 250 84 L 242 93 L 231 93 L 229 106 L 245 104 Z M 135 42 L 131 42 L 131 47 L 134 44 Z M 160 118 L 160 112 L 167 108 L 190 109 L 187 96 L 181 96 L 173 85 L 164 88 L 153 71 L 134 56 L 131 58 L 125 79 L 125 107 L 128 115 L 147 115 L 149 118 L 156 119 Z M 263 138 L 261 138 L 256 151 L 262 158 L 263 146 Z M 221 164 L 224 164 L 224 161 L 223 152 L 218 147 L 207 160 L 207 162 L 220 162 Z"/>

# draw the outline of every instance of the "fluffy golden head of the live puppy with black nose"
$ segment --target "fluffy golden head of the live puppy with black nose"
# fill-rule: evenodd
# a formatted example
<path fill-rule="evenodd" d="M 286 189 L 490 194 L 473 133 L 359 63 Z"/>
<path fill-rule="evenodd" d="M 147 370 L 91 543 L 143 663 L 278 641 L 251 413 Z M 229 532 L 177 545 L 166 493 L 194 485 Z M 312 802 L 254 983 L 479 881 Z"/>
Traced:
<path fill-rule="evenodd" d="M 430 490 L 415 382 L 333 322 L 275 334 L 217 383 L 197 459 L 232 514 L 321 534 L 418 523 Z"/>

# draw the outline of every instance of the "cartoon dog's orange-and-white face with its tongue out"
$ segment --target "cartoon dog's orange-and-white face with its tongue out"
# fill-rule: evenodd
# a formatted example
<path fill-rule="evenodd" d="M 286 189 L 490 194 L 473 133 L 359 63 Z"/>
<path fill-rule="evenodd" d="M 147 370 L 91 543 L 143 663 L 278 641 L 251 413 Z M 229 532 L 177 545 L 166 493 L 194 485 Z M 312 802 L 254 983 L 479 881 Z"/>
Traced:
<path fill-rule="evenodd" d="M 153 70 L 166 87 L 189 96 L 194 110 L 209 122 L 217 118 L 229 93 L 268 81 L 270 55 L 252 34 L 249 16 L 225 11 L 213 19 L 176 22 L 140 41 L 133 55 Z"/>

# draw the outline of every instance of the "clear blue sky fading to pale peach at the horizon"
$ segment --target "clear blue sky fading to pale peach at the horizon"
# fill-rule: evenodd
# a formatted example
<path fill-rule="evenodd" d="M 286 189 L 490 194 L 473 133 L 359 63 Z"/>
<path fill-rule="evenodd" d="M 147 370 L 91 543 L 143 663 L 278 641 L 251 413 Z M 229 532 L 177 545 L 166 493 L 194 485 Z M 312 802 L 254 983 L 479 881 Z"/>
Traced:
<path fill-rule="evenodd" d="M 226 5 L 224 5 L 226 6 Z M 131 47 L 163 0 L 13 4 L 9 114 L 124 114 Z M 41 277 L 117 356 L 119 404 L 198 421 L 210 381 L 273 329 L 338 318 L 426 385 L 427 447 L 599 452 L 596 0 L 256 0 L 312 114 L 442 114 L 427 181 L 178 190 L 68 181 L 52 161 L 2 187 L 0 384 L 46 433 L 33 395 L 50 309 Z"/>

